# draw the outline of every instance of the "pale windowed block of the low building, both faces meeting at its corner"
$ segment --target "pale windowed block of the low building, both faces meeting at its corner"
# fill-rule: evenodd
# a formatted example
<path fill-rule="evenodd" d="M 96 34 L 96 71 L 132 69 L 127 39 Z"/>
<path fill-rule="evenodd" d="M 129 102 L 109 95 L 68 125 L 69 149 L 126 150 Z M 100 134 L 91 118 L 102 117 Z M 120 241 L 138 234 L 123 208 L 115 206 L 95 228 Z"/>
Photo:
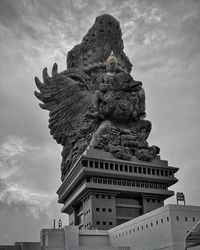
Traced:
<path fill-rule="evenodd" d="M 183 250 L 187 231 L 199 220 L 200 207 L 167 205 L 110 229 L 110 244 L 132 250 Z"/>

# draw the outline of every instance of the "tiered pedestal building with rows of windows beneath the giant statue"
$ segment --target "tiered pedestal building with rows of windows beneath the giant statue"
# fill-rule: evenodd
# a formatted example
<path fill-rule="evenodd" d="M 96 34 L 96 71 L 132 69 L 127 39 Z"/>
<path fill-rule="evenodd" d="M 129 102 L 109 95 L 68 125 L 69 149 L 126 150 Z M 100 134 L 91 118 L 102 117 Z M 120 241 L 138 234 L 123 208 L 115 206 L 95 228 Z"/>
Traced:
<path fill-rule="evenodd" d="M 157 156 L 151 162 L 114 158 L 90 145 L 57 191 L 69 225 L 108 230 L 162 207 L 174 195 L 178 168 Z"/>

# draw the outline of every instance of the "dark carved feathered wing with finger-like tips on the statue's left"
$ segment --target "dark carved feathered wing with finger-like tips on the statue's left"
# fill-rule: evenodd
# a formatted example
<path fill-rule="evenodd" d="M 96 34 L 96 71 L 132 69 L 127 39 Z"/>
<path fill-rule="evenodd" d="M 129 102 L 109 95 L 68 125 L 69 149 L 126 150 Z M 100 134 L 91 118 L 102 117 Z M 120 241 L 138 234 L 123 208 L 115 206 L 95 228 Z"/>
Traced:
<path fill-rule="evenodd" d="M 57 143 L 65 146 L 72 131 L 77 130 L 80 118 L 92 105 L 92 93 L 89 91 L 90 79 L 79 70 L 65 70 L 58 73 L 57 64 L 52 69 L 52 77 L 47 68 L 43 70 L 42 83 L 35 77 L 40 92 L 34 92 L 42 101 L 40 107 L 49 111 L 50 134 Z"/>

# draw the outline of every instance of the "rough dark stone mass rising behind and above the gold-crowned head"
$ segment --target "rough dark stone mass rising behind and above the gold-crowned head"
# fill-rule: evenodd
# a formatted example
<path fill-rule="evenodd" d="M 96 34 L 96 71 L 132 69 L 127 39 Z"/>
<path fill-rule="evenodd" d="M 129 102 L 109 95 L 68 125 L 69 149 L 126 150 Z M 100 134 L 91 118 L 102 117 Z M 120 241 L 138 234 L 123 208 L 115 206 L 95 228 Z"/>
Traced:
<path fill-rule="evenodd" d="M 67 68 L 80 68 L 85 71 L 101 68 L 113 50 L 118 60 L 118 67 L 130 73 L 132 64 L 123 49 L 119 22 L 107 14 L 98 16 L 81 44 L 68 52 Z"/>

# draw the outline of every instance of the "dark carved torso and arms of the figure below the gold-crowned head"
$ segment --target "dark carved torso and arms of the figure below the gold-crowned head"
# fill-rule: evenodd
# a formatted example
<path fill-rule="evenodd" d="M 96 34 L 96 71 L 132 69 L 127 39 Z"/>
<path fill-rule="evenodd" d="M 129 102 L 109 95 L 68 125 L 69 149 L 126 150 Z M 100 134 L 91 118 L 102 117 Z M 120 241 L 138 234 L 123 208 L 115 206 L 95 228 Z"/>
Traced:
<path fill-rule="evenodd" d="M 126 73 L 102 74 L 98 78 L 100 101 L 98 111 L 110 120 L 125 122 L 140 114 L 141 86 Z"/>

